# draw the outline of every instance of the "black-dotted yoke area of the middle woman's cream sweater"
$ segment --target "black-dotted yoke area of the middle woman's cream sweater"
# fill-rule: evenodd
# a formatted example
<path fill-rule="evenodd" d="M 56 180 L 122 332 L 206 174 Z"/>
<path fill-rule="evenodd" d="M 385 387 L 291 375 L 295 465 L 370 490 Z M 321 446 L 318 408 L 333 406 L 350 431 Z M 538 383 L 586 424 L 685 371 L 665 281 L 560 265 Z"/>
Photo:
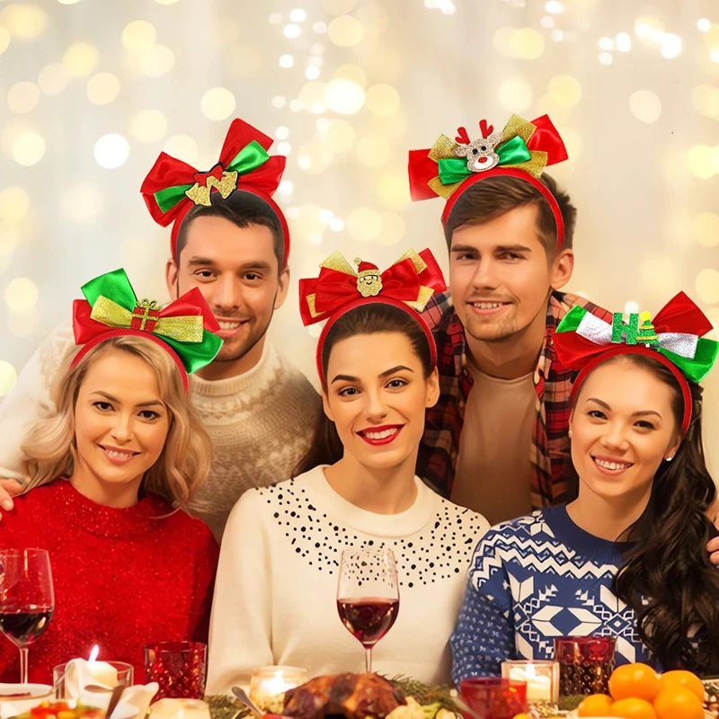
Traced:
<path fill-rule="evenodd" d="M 401 588 L 444 581 L 466 571 L 484 533 L 479 515 L 441 498 L 434 517 L 418 534 L 378 539 L 345 527 L 317 510 L 297 480 L 263 487 L 258 492 L 270 505 L 272 517 L 288 544 L 323 574 L 337 573 L 342 550 L 349 546 L 384 545 L 395 554 Z"/>

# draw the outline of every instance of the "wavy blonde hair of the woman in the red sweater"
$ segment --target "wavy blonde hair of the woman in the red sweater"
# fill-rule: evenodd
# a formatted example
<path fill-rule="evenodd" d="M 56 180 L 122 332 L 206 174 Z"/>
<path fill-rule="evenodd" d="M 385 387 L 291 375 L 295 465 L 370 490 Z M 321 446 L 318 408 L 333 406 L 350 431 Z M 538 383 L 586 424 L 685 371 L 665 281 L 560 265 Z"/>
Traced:
<path fill-rule="evenodd" d="M 186 508 L 209 473 L 212 444 L 190 404 L 182 377 L 169 353 L 156 342 L 127 334 L 111 337 L 88 351 L 73 368 L 60 369 L 53 389 L 56 411 L 37 422 L 22 444 L 27 489 L 71 475 L 77 460 L 75 403 L 88 368 L 111 350 L 143 359 L 155 372 L 169 415 L 169 430 L 160 457 L 143 477 L 146 492 Z"/>

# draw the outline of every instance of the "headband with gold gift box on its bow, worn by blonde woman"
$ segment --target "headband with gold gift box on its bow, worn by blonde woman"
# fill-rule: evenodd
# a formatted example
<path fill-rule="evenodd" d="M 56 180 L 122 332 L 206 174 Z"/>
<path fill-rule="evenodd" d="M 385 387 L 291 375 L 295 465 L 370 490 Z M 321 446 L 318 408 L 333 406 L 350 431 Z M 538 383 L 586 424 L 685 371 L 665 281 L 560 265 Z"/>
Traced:
<path fill-rule="evenodd" d="M 90 280 L 82 290 L 85 299 L 75 299 L 73 303 L 73 331 L 75 343 L 83 347 L 70 367 L 75 367 L 100 342 L 134 334 L 169 353 L 187 389 L 188 373 L 208 365 L 222 346 L 222 340 L 214 334 L 219 324 L 198 288 L 162 309 L 155 301 L 138 301 L 122 269 Z"/>

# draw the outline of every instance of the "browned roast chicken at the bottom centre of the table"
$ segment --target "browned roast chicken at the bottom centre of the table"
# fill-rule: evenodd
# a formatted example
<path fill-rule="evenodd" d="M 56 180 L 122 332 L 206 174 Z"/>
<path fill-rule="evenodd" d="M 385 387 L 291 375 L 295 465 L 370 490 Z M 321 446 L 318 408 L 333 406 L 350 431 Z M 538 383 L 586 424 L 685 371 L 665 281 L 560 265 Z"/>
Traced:
<path fill-rule="evenodd" d="M 288 689 L 282 714 L 295 719 L 384 719 L 403 704 L 402 692 L 377 674 L 329 674 Z"/>

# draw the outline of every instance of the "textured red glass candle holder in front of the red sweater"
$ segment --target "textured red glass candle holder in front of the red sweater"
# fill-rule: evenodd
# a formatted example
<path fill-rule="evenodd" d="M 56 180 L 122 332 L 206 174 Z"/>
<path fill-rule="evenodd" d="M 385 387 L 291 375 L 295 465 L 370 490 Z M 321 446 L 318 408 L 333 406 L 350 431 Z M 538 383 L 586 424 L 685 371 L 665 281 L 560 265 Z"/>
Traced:
<path fill-rule="evenodd" d="M 204 697 L 207 663 L 208 646 L 202 642 L 146 644 L 145 680 L 160 685 L 154 700 Z"/>

